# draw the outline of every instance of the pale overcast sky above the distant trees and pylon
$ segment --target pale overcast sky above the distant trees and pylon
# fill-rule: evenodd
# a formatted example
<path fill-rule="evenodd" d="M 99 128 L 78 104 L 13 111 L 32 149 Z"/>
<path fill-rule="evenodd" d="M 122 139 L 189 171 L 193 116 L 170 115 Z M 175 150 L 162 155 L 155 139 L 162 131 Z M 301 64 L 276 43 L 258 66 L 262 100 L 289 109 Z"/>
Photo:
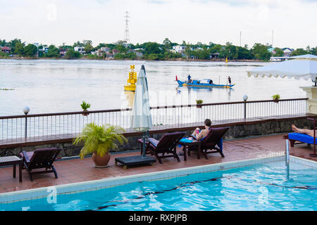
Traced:
<path fill-rule="evenodd" d="M 317 46 L 317 0 L 0 0 L 0 39 L 72 45 L 123 39 L 242 46 Z"/>

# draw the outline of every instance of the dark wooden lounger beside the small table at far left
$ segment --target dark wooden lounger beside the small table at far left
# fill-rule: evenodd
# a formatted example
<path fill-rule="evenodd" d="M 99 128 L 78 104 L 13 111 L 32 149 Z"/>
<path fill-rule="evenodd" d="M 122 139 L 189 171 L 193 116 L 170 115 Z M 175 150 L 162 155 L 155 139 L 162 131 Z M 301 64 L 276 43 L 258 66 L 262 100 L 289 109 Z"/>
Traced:
<path fill-rule="evenodd" d="M 20 153 L 20 157 L 23 158 L 23 166 L 27 170 L 30 181 L 33 180 L 32 174 L 42 174 L 42 173 L 54 173 L 57 179 L 57 172 L 54 168 L 53 162 L 56 160 L 58 153 L 60 153 L 60 148 L 42 148 L 37 149 L 34 152 Z M 33 172 L 33 169 L 44 169 L 42 171 Z"/>

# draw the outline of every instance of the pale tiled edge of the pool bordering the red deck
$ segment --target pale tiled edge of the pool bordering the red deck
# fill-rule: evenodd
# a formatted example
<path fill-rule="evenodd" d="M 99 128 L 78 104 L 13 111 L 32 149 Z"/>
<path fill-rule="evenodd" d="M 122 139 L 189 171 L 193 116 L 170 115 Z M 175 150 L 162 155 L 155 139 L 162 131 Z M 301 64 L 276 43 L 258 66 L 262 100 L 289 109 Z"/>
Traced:
<path fill-rule="evenodd" d="M 308 165 L 317 169 L 317 162 L 311 160 L 304 160 L 291 156 L 292 162 L 300 162 L 303 165 Z M 232 162 L 220 162 L 210 165 L 201 165 L 197 167 L 185 167 L 180 169 L 168 169 L 159 172 L 149 172 L 143 174 L 133 174 L 128 176 L 116 176 L 105 179 L 98 179 L 93 181 L 83 181 L 72 184 L 61 184 L 58 186 L 47 186 L 43 188 L 32 188 L 22 191 L 12 191 L 8 193 L 0 193 L 1 203 L 13 203 L 22 200 L 32 200 L 37 198 L 46 198 L 51 191 L 56 191 L 57 195 L 80 193 L 83 191 L 95 191 L 101 188 L 109 188 L 113 186 L 119 186 L 124 184 L 130 184 L 140 181 L 153 181 L 158 179 L 170 179 L 175 176 L 182 176 L 187 174 L 197 174 L 201 172 L 213 172 L 224 169 L 232 169 L 237 167 L 245 167 L 250 165 L 256 165 L 266 162 L 277 162 L 285 159 L 285 155 L 270 156 L 263 158 L 254 158 L 248 160 L 237 160 Z"/>

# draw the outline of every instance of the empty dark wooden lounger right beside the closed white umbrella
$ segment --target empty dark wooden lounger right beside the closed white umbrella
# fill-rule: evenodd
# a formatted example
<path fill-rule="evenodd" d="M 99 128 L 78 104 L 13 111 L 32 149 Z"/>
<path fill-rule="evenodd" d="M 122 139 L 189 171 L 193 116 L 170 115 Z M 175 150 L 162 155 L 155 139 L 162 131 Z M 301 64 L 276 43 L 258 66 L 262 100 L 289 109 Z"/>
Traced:
<path fill-rule="evenodd" d="M 180 162 L 180 158 L 176 153 L 176 146 L 178 141 L 185 136 L 185 132 L 174 132 L 164 134 L 161 139 L 158 141 L 156 139 L 149 138 L 146 143 L 145 150 L 147 153 L 155 155 L 159 163 L 162 163 L 162 158 L 176 158 Z M 139 143 L 143 143 L 142 139 L 138 139 Z M 142 150 L 141 150 L 142 153 Z M 159 155 L 160 154 L 160 155 Z"/>

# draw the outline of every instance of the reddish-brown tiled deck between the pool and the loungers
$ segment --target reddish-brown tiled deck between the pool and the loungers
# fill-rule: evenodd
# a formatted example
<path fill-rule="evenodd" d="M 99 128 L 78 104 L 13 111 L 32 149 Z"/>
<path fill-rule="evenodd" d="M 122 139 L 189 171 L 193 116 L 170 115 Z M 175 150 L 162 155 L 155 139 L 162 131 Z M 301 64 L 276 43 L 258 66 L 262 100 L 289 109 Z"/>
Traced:
<path fill-rule="evenodd" d="M 95 168 L 91 158 L 85 158 L 84 160 L 59 160 L 54 162 L 58 172 L 58 179 L 54 178 L 54 174 L 35 174 L 33 176 L 34 181 L 30 181 L 27 172 L 23 170 L 23 182 L 19 182 L 18 176 L 16 178 L 12 177 L 12 167 L 2 167 L 0 168 L 0 193 L 71 184 L 80 181 L 92 181 L 116 176 L 158 172 L 168 169 L 195 167 L 219 162 L 232 162 L 235 160 L 282 155 L 285 153 L 285 139 L 282 139 L 282 136 L 282 134 L 279 134 L 225 141 L 223 147 L 225 158 L 221 158 L 220 154 L 216 153 L 209 154 L 208 160 L 204 157 L 198 160 L 197 155 L 193 153 L 190 157 L 187 157 L 187 161 L 184 161 L 182 156 L 180 156 L 181 162 L 178 162 L 174 158 L 165 158 L 163 159 L 163 164 L 156 162 L 153 166 L 131 167 L 128 169 L 123 169 L 120 165 L 115 165 L 114 159 L 116 157 L 139 155 L 139 152 L 113 154 L 111 155 L 109 167 L 102 169 Z M 317 161 L 317 158 L 311 158 L 309 156 L 312 151 L 312 147 L 306 144 L 296 145 L 294 148 L 290 148 L 291 155 Z M 178 152 L 182 152 L 181 148 L 178 149 Z"/>

